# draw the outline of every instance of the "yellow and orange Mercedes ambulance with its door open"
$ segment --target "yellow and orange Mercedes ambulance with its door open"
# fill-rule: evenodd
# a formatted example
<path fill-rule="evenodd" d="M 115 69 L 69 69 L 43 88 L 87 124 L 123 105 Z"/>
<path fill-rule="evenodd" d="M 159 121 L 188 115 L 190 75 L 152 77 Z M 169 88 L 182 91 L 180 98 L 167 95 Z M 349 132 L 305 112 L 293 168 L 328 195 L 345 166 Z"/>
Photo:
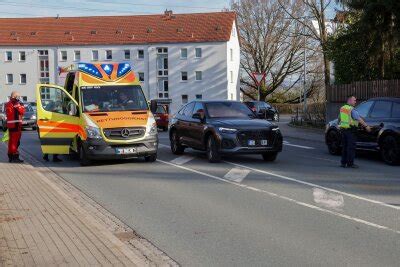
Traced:
<path fill-rule="evenodd" d="M 38 84 L 37 124 L 42 152 L 93 160 L 157 159 L 155 101 L 146 100 L 128 63 L 79 63 L 65 86 Z"/>

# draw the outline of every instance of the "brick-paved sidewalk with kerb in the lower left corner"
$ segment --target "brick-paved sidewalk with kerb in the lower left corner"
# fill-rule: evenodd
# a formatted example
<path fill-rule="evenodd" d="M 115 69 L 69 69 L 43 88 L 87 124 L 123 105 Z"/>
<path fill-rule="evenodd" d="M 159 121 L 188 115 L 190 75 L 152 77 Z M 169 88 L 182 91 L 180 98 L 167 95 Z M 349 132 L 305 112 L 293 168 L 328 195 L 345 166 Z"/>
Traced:
<path fill-rule="evenodd" d="M 0 266 L 171 266 L 163 252 L 40 162 L 0 143 Z"/>

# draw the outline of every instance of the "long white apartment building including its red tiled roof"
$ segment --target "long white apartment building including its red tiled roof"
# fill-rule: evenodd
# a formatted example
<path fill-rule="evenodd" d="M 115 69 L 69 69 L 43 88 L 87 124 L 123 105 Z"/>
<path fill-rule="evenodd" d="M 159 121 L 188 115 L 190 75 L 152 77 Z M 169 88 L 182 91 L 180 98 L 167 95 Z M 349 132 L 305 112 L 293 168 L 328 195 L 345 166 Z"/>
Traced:
<path fill-rule="evenodd" d="M 35 101 L 78 62 L 129 62 L 149 99 L 170 112 L 191 100 L 239 99 L 235 13 L 0 19 L 0 101 Z"/>

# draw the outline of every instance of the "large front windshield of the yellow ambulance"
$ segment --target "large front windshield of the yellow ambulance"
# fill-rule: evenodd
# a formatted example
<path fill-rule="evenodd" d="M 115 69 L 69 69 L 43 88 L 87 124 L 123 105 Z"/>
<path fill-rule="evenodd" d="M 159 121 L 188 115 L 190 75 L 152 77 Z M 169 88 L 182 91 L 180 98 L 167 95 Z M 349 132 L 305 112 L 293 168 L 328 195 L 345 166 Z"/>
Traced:
<path fill-rule="evenodd" d="M 83 112 L 147 110 L 139 85 L 82 86 Z"/>

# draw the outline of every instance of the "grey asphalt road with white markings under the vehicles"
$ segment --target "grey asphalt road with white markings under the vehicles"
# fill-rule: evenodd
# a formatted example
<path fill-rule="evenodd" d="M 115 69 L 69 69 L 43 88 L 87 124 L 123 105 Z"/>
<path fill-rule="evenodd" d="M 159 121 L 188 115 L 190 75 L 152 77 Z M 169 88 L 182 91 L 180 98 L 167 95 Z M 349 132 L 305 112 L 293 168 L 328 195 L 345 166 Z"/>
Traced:
<path fill-rule="evenodd" d="M 342 169 L 322 138 L 285 141 L 273 163 L 175 156 L 162 133 L 155 163 L 47 165 L 182 265 L 398 266 L 400 168 L 360 155 Z M 41 158 L 35 132 L 22 147 Z"/>

